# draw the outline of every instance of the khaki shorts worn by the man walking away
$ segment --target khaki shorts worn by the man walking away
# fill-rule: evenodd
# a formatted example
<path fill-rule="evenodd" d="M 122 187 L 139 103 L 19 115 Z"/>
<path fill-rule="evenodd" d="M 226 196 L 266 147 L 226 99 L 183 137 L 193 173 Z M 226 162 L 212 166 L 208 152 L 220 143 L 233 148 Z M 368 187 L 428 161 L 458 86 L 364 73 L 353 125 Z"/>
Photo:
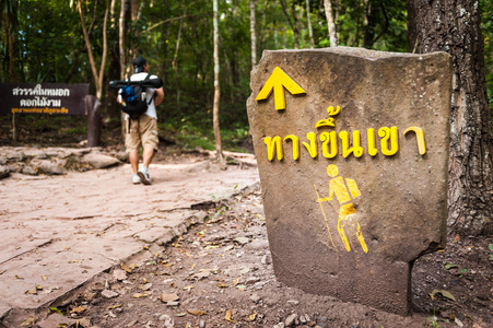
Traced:
<path fill-rule="evenodd" d="M 127 120 L 126 130 L 125 147 L 127 152 L 139 151 L 140 147 L 157 150 L 160 139 L 157 137 L 157 120 L 155 118 L 144 114 L 137 119 L 130 119 L 130 132 Z"/>

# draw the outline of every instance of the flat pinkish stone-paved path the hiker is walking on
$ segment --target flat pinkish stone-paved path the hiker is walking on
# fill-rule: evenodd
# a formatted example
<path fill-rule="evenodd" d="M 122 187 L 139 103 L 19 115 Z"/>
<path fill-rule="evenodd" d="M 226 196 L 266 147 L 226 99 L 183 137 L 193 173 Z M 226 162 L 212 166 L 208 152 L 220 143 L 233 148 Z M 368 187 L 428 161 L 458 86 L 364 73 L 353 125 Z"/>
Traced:
<path fill-rule="evenodd" d="M 172 241 L 206 216 L 196 204 L 259 180 L 255 166 L 221 171 L 207 161 L 153 164 L 151 186 L 133 185 L 130 173 L 125 164 L 0 180 L 0 319 L 46 306 L 144 246 Z M 43 290 L 34 294 L 36 285 Z"/>

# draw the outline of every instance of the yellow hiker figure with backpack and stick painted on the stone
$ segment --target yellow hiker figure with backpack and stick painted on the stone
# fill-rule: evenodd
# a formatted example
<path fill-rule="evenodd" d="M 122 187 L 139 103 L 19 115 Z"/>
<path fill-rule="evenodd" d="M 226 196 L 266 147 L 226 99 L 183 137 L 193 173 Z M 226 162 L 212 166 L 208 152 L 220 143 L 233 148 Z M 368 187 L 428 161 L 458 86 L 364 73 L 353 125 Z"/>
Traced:
<path fill-rule="evenodd" d="M 356 209 L 354 208 L 352 203 L 352 199 L 355 199 L 361 196 L 360 189 L 357 189 L 356 181 L 350 178 L 343 178 L 342 176 L 338 176 L 339 169 L 336 165 L 331 164 L 327 166 L 327 174 L 332 177 L 332 179 L 329 181 L 329 197 L 320 198 L 318 197 L 318 202 L 321 203 L 324 201 L 329 201 L 333 199 L 333 196 L 336 196 L 337 200 L 340 203 L 339 209 L 339 218 L 338 218 L 338 232 L 342 239 L 342 243 L 345 246 L 345 250 L 351 251 L 351 246 L 349 245 L 348 237 L 344 233 L 344 225 L 347 221 L 352 221 L 352 216 L 356 214 Z M 324 214 L 325 218 L 325 214 Z M 363 237 L 363 233 L 361 232 L 360 222 L 355 223 L 356 225 L 356 237 L 360 241 L 361 247 L 363 248 L 364 253 L 368 253 L 368 247 L 366 246 L 365 238 Z M 328 226 L 327 226 L 328 229 Z M 329 232 L 330 234 L 330 232 Z"/>

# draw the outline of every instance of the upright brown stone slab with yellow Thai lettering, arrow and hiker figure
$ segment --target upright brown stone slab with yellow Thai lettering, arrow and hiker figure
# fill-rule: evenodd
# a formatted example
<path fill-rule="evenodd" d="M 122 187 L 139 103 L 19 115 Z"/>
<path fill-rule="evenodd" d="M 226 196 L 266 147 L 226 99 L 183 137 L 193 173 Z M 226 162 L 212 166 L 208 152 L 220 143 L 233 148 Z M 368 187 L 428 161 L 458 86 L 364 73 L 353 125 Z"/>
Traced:
<path fill-rule="evenodd" d="M 449 55 L 266 50 L 250 87 L 278 279 L 409 314 L 413 261 L 446 243 Z"/>

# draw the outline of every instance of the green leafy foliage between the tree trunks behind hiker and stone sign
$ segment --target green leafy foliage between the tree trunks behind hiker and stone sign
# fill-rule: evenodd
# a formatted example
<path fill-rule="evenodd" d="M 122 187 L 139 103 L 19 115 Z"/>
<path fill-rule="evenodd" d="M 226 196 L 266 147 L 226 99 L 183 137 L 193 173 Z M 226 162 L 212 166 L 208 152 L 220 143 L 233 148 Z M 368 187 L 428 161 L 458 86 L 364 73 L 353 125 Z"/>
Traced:
<path fill-rule="evenodd" d="M 95 61 L 101 62 L 103 20 L 106 1 L 81 1 Z M 322 1 L 284 0 L 292 20 L 294 1 L 300 47 L 308 48 L 307 14 L 314 28 L 315 47 L 329 46 Z M 139 2 L 139 1 L 132 1 Z M 220 122 L 227 147 L 235 147 L 246 136 L 246 99 L 250 94 L 249 1 L 220 0 Z M 72 3 L 72 5 L 70 5 Z M 151 72 L 164 80 L 165 101 L 159 106 L 160 122 L 166 132 L 179 133 L 184 142 L 210 149 L 213 102 L 212 1 L 144 1 L 138 19 L 126 31 L 126 48 L 148 59 Z M 77 1 L 1 1 L 0 83 L 91 83 L 87 50 L 82 35 Z M 108 54 L 105 89 L 109 77 L 119 75 L 118 17 L 121 1 L 108 24 Z M 367 7 L 365 7 L 367 5 Z M 493 98 L 493 1 L 481 0 L 484 36 L 485 75 L 489 98 Z M 341 46 L 376 50 L 407 51 L 406 0 L 333 1 L 333 14 Z M 127 16 L 129 19 L 130 15 Z M 9 19 L 9 20 L 8 20 Z M 14 43 L 8 43 L 11 28 Z M 257 60 L 263 49 L 294 48 L 294 33 L 280 1 L 256 1 Z M 12 50 L 12 51 L 11 51 Z M 14 55 L 15 77 L 9 71 Z M 127 59 L 130 66 L 131 58 Z M 113 63 L 113 66 L 111 66 Z M 117 67 L 117 71 L 115 70 Z M 128 68 L 131 71 L 131 68 Z M 107 96 L 107 91 L 103 97 Z M 106 118 L 113 101 L 103 101 Z M 490 102 L 493 115 L 493 102 Z M 40 120 L 39 124 L 46 122 Z M 78 133 L 71 130 L 69 132 Z M 82 131 L 81 131 L 82 132 Z"/>

